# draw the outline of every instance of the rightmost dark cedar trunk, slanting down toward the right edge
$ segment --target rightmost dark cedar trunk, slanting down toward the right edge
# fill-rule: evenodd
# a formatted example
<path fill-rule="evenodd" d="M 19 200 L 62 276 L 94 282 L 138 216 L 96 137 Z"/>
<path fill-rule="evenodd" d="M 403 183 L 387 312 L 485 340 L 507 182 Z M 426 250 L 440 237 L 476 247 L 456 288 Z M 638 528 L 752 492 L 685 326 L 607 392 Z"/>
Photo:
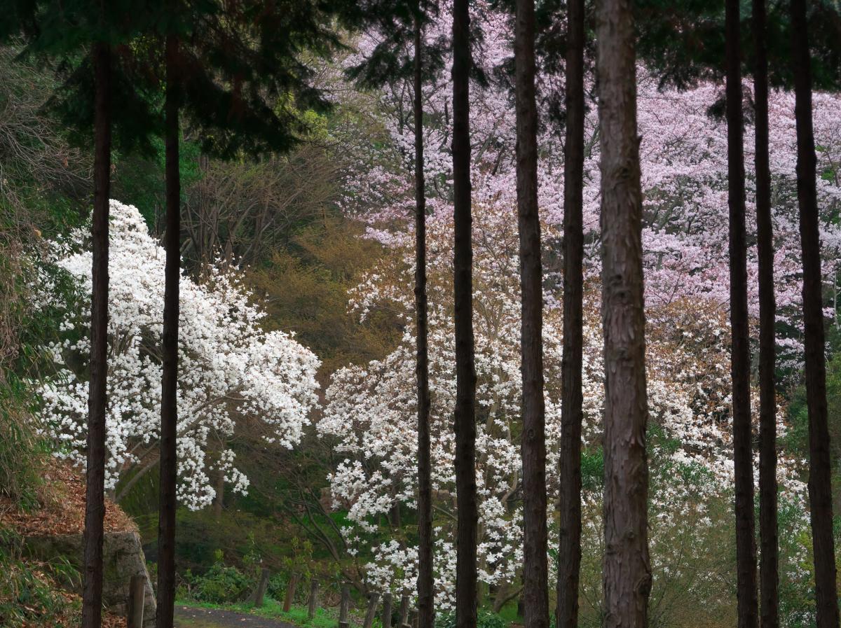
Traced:
<path fill-rule="evenodd" d="M 809 411 L 809 506 L 815 557 L 817 628 L 838 627 L 833 501 L 827 426 L 827 371 L 823 338 L 821 242 L 817 231 L 815 137 L 812 132 L 812 72 L 806 0 L 791 0 L 797 124 L 797 202 L 803 259 L 803 323 L 806 400 Z"/>

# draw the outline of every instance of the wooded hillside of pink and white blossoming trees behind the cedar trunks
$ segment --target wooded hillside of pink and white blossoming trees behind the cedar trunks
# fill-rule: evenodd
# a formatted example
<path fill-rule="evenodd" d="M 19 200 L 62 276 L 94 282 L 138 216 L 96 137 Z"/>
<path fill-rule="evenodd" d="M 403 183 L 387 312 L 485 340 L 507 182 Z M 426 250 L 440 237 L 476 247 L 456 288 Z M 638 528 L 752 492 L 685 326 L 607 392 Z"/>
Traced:
<path fill-rule="evenodd" d="M 694 4 L 669 3 L 667 8 L 641 3 L 638 27 L 643 33 L 637 117 L 644 197 L 653 571 L 649 625 L 663 628 L 736 623 L 727 126 L 722 116 L 722 65 L 703 58 L 722 50 L 721 41 L 705 38 L 722 28 L 724 16 L 723 10 L 708 13 L 690 6 Z M 832 495 L 838 513 L 841 358 L 835 356 L 841 350 L 837 48 L 841 8 L 831 2 L 813 4 L 810 24 L 817 26 L 813 117 Z M 421 93 L 433 564 L 442 626 L 452 622 L 458 515 L 451 429 L 456 358 L 452 57 L 447 38 L 452 22 L 445 5 L 430 13 L 423 30 L 428 76 Z M 560 499 L 565 123 L 563 51 L 559 50 L 565 33 L 556 24 L 560 20 L 551 18 L 559 9 L 549 3 L 543 9 L 546 14 L 538 11 L 543 25 L 537 39 L 538 200 L 545 299 L 549 569 L 555 574 L 558 552 L 551 548 L 558 547 Z M 470 10 L 477 29 L 470 83 L 470 177 L 479 623 L 495 628 L 519 621 L 523 589 L 513 18 L 505 3 L 478 0 Z M 588 41 L 593 38 L 591 13 L 588 5 Z M 780 32 L 787 28 L 783 14 L 782 4 L 770 3 L 771 24 Z M 830 14 L 835 22 L 824 19 Z M 698 38 L 672 56 L 666 51 L 674 52 L 680 44 L 675 44 L 673 33 L 664 31 L 662 24 L 669 19 L 674 32 L 694 22 Z M 255 88 L 272 115 L 293 121 L 289 127 L 294 128 L 294 141 L 288 147 L 255 150 L 245 140 L 228 142 L 228 135 L 237 132 L 212 128 L 197 105 L 184 108 L 177 127 L 182 271 L 175 557 L 177 599 L 185 603 L 241 604 L 264 568 L 272 574 L 268 596 L 288 597 L 292 607 L 306 604 L 311 581 L 320 583 L 325 604 L 336 605 L 342 583 L 352 584 L 354 599 L 374 592 L 389 592 L 399 599 L 414 591 L 418 577 L 415 110 L 407 71 L 411 40 L 405 33 L 389 31 L 384 22 L 354 28 L 353 19 L 330 20 L 335 42 L 304 45 L 294 57 L 305 68 L 307 87 L 318 92 L 317 99 L 309 102 L 291 86 L 286 91 Z M 698 44 L 701 53 L 690 59 L 690 52 L 685 52 L 686 59 L 677 58 L 691 44 Z M 151 46 L 138 41 L 132 45 L 132 54 Z M 778 55 L 772 62 L 769 123 L 777 305 L 780 621 L 805 628 L 815 625 L 815 584 L 806 486 L 808 417 L 795 98 L 788 89 L 791 76 L 782 61 L 785 53 L 773 44 L 771 55 Z M 605 364 L 600 318 L 600 138 L 590 44 L 584 59 L 579 625 L 598 626 L 604 615 Z M 0 48 L 0 491 L 4 499 L 24 509 L 38 508 L 42 478 L 52 473 L 56 461 L 84 468 L 86 459 L 93 133 L 92 120 L 79 119 L 78 94 L 84 92 L 79 84 L 90 73 L 89 68 L 85 73 L 85 63 L 78 51 L 56 59 L 32 50 L 24 39 L 7 38 Z M 744 61 L 747 76 L 751 64 L 751 59 Z M 296 76 L 304 75 L 295 71 Z M 150 108 L 159 107 L 164 98 L 160 86 L 144 85 L 135 96 Z M 744 81 L 743 92 L 744 149 L 751 161 L 750 81 Z M 108 499 L 139 528 L 154 573 L 161 488 L 166 144 L 148 130 L 140 133 L 132 128 L 148 123 L 156 129 L 161 120 L 134 115 L 132 109 L 114 107 L 114 118 L 124 117 L 128 130 L 115 131 L 110 151 L 114 200 L 109 206 L 104 481 Z M 759 301 L 756 181 L 751 169 L 746 185 L 756 440 Z M 838 543 L 841 526 L 837 517 L 834 522 Z M 14 531 L 3 528 L 3 535 L 9 537 L 4 547 L 15 547 Z M 0 553 L 0 571 L 5 573 L 0 577 L 0 623 L 39 625 L 31 623 L 27 611 L 15 609 L 16 596 L 24 589 L 37 598 L 30 605 L 49 607 L 56 617 L 65 612 L 61 599 L 50 597 L 57 594 L 45 584 L 55 575 L 50 569 L 26 563 L 13 549 Z"/>

